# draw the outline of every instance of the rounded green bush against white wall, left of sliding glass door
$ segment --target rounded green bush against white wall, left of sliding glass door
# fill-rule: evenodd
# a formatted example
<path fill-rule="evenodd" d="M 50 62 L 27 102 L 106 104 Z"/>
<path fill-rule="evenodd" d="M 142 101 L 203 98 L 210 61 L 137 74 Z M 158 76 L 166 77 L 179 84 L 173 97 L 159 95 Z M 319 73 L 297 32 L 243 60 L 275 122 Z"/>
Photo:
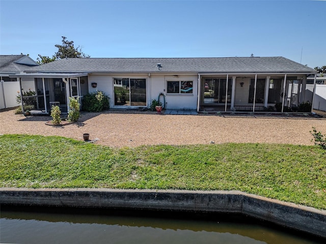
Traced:
<path fill-rule="evenodd" d="M 95 93 L 85 95 L 82 104 L 84 111 L 100 112 L 110 108 L 110 98 L 103 92 L 96 90 Z"/>

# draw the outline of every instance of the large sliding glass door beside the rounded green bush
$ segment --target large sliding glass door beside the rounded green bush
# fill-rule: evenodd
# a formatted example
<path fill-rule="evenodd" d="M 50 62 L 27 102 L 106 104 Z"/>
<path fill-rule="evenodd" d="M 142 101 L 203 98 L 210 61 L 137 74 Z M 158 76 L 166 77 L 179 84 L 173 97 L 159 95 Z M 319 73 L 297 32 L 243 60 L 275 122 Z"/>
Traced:
<path fill-rule="evenodd" d="M 147 106 L 146 79 L 114 78 L 114 105 Z"/>

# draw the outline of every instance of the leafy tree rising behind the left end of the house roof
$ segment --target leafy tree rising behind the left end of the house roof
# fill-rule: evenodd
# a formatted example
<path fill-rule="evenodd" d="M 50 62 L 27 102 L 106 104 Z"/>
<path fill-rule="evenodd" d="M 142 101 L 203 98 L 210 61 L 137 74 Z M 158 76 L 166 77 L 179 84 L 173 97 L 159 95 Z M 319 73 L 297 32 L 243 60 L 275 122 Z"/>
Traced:
<path fill-rule="evenodd" d="M 80 46 L 74 47 L 73 41 L 68 41 L 66 37 L 62 37 L 62 45 L 57 44 L 55 47 L 58 48 L 58 51 L 52 57 L 38 54 L 36 63 L 43 65 L 65 57 L 90 57 L 82 51 Z"/>

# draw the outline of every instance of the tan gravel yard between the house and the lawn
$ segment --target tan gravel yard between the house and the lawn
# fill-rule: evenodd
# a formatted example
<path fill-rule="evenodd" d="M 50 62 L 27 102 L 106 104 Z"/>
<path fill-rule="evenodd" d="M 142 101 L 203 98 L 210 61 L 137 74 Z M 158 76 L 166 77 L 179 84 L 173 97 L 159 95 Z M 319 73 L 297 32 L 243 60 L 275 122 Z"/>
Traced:
<path fill-rule="evenodd" d="M 0 112 L 0 134 L 56 135 L 90 140 L 112 147 L 156 144 L 210 144 L 225 142 L 313 145 L 309 131 L 326 134 L 325 118 L 285 118 L 224 115 L 157 115 L 150 111 L 82 112 L 77 123 L 48 126 L 50 116 Z M 1 138 L 0 138 L 1 139 Z"/>

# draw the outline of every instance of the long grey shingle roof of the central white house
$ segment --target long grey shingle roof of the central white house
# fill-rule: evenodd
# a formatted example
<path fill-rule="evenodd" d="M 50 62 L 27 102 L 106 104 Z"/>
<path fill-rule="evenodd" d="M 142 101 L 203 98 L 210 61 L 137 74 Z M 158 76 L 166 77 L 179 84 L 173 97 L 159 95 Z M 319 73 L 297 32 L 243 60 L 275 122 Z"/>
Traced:
<path fill-rule="evenodd" d="M 157 64 L 161 64 L 158 70 Z M 27 73 L 315 73 L 284 57 L 63 58 Z"/>

